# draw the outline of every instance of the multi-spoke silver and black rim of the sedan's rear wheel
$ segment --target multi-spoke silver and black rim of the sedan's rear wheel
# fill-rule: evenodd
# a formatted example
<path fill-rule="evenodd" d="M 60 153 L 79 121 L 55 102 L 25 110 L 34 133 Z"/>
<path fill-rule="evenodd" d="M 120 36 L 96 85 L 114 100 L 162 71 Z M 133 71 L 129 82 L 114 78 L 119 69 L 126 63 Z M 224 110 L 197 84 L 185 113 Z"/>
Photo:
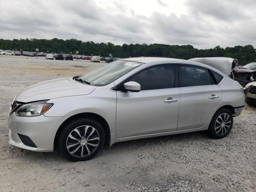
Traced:
<path fill-rule="evenodd" d="M 222 136 L 228 132 L 231 126 L 231 118 L 227 113 L 220 114 L 215 122 L 215 132 L 216 134 Z"/>

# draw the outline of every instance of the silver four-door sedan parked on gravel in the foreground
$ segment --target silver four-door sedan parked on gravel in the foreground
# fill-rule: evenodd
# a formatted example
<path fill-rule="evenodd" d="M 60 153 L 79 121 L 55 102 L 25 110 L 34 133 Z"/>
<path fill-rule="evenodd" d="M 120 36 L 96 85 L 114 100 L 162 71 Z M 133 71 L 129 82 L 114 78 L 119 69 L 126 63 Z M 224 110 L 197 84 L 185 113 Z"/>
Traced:
<path fill-rule="evenodd" d="M 242 112 L 244 90 L 221 62 L 222 71 L 206 63 L 127 58 L 30 86 L 12 102 L 9 143 L 38 152 L 56 146 L 84 161 L 104 144 L 134 139 L 201 130 L 223 138 Z"/>

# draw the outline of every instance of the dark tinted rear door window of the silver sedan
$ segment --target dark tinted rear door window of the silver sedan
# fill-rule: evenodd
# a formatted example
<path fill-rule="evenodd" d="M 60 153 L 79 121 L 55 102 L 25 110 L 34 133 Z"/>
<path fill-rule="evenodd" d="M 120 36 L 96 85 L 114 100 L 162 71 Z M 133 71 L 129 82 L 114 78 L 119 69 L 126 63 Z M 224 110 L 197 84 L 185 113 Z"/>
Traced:
<path fill-rule="evenodd" d="M 207 69 L 180 65 L 180 87 L 192 87 L 192 86 L 203 86 L 212 85 L 214 80 Z"/>

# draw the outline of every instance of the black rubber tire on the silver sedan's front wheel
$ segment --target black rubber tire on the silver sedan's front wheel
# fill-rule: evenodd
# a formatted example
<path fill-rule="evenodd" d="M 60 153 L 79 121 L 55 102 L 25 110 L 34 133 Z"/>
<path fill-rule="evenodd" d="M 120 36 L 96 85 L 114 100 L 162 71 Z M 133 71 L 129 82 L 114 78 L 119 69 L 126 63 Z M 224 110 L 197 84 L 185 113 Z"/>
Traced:
<path fill-rule="evenodd" d="M 83 139 L 80 139 L 80 141 L 73 140 L 72 138 L 69 137 L 69 135 L 72 134 L 71 136 L 73 138 L 74 137 L 81 138 L 76 132 L 74 132 L 74 130 L 78 129 L 80 132 L 80 135 L 83 136 L 84 132 L 86 130 L 86 126 L 89 126 L 87 129 L 86 136 Z M 93 134 L 90 136 L 90 132 L 92 132 L 93 128 L 96 131 L 94 130 Z M 94 145 L 98 144 L 98 146 L 89 145 L 89 142 L 87 143 L 87 141 L 84 141 L 84 140 L 88 140 L 88 139 L 86 139 L 86 137 L 89 138 L 89 140 L 92 139 L 92 137 L 94 137 L 93 139 L 99 138 L 99 140 L 96 139 L 96 140 L 90 141 L 90 142 L 93 142 L 92 144 L 94 144 Z M 78 144 L 78 142 L 79 142 L 79 144 Z M 86 161 L 86 160 L 92 159 L 94 156 L 96 156 L 102 150 L 104 142 L 105 142 L 105 133 L 102 128 L 102 125 L 99 122 L 97 122 L 96 120 L 89 119 L 89 118 L 78 118 L 78 119 L 75 119 L 75 120 L 72 120 L 72 121 L 66 123 L 62 127 L 62 129 L 60 130 L 59 135 L 58 135 L 58 149 L 60 150 L 60 153 L 65 158 L 67 158 L 68 160 L 73 161 L 73 162 Z M 75 143 L 75 144 L 77 143 L 77 144 L 68 149 L 67 146 L 70 146 L 73 143 Z M 80 147 L 78 148 L 78 146 L 80 146 Z M 76 150 L 76 148 L 78 148 L 78 149 Z M 69 152 L 69 150 L 71 152 L 74 152 L 76 150 L 76 152 L 74 154 L 71 154 Z M 83 155 L 87 153 L 86 156 L 84 156 L 84 157 L 81 157 L 82 150 L 83 150 Z M 88 150 L 89 150 L 90 154 L 89 154 Z"/>

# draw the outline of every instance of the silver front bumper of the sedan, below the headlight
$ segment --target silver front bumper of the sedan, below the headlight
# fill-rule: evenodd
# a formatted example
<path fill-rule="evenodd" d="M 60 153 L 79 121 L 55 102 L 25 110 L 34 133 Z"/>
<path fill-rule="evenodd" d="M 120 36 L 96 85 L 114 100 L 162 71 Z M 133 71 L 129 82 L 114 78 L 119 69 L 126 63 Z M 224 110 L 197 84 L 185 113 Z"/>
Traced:
<path fill-rule="evenodd" d="M 60 125 L 68 117 L 18 117 L 12 113 L 8 117 L 9 144 L 31 151 L 52 152 L 54 138 Z M 22 143 L 18 134 L 28 136 L 36 147 Z"/>

